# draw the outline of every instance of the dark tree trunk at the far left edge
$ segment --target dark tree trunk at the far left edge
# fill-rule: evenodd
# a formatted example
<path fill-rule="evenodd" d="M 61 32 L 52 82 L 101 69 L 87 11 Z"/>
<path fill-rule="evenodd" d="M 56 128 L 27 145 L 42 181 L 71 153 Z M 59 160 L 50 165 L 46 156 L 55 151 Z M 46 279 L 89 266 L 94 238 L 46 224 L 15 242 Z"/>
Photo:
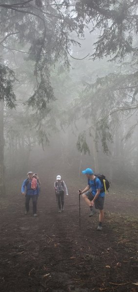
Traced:
<path fill-rule="evenodd" d="M 4 197 L 4 102 L 0 101 L 0 198 Z"/>

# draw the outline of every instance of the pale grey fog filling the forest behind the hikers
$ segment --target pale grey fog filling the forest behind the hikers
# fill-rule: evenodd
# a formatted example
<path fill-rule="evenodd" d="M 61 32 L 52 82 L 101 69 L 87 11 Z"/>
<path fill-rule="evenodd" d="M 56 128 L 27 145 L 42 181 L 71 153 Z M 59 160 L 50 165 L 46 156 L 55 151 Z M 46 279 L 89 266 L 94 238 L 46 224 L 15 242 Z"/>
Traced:
<path fill-rule="evenodd" d="M 45 9 L 40 2 L 33 1 L 34 6 L 27 7 L 35 11 L 42 5 Z M 29 1 L 28 5 L 32 3 Z M 9 7 L 2 8 L 3 4 L 0 7 L 1 21 L 6 25 Z M 50 4 L 47 7 L 50 9 Z M 62 15 L 78 21 L 76 9 L 75 14 L 71 6 L 62 6 Z M 6 78 L 11 80 L 9 88 L 7 81 L 4 85 L 6 88 L 7 84 L 10 93 L 3 93 L 5 97 L 0 104 L 4 176 L 23 177 L 30 168 L 41 172 L 49 165 L 54 176 L 59 170 L 59 173 L 67 171 L 68 176 L 74 173 L 80 179 L 81 170 L 88 166 L 104 173 L 112 183 L 125 185 L 126 180 L 131 179 L 130 184 L 136 187 L 138 68 L 133 51 L 125 51 L 125 46 L 118 47 L 116 42 L 113 46 L 110 37 L 108 44 L 103 26 L 100 27 L 95 17 L 91 21 L 88 13 L 83 21 L 80 16 L 78 30 L 69 28 L 67 23 L 58 27 L 59 20 L 56 18 L 57 24 L 54 24 L 49 16 L 55 38 L 49 37 L 50 31 L 45 35 L 47 48 L 43 47 L 39 55 L 41 20 L 34 19 L 34 26 L 28 23 L 27 28 L 22 15 L 18 11 L 13 13 L 17 21 L 20 17 L 20 32 L 17 35 L 10 32 L 8 37 L 7 24 L 7 32 L 3 29 L 1 33 L 0 46 L 1 66 L 8 68 Z M 48 22 L 45 25 L 48 27 Z M 108 20 L 109 31 L 112 25 L 112 19 Z M 11 26 L 16 28 L 13 18 Z M 60 37 L 62 30 L 66 31 L 67 43 L 55 49 L 56 32 Z M 128 42 L 131 30 L 133 28 L 128 27 L 124 34 Z M 64 42 L 63 34 L 61 36 Z M 104 36 L 103 42 L 101 36 Z M 138 45 L 135 32 L 132 43 L 134 47 Z M 1 84 L 4 82 L 1 79 Z M 32 164 L 32 161 L 36 162 Z M 56 165 L 57 170 L 53 172 Z"/>

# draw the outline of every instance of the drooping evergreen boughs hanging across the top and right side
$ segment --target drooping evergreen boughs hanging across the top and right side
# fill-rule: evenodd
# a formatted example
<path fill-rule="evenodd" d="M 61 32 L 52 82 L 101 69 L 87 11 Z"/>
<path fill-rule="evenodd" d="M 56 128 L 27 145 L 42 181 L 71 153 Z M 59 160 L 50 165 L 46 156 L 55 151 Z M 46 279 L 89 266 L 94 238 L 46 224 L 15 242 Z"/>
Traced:
<path fill-rule="evenodd" d="M 111 129 L 113 120 L 118 122 L 117 112 L 129 113 L 138 107 L 138 72 L 134 69 L 138 66 L 137 5 L 137 0 L 0 0 L 0 45 L 12 52 L 18 51 L 16 44 L 22 45 L 21 52 L 26 50 L 24 54 L 34 62 L 36 84 L 27 105 L 39 111 L 40 120 L 44 112 L 45 117 L 49 113 L 49 103 L 55 101 L 50 83 L 51 65 L 62 59 L 64 67 L 69 68 L 69 56 L 74 57 L 71 44 L 80 46 L 70 33 L 84 37 L 84 29 L 93 23 L 91 33 L 99 31 L 99 34 L 89 59 L 108 57 L 109 61 L 121 65 L 127 60 L 132 66 L 131 73 L 127 69 L 119 74 L 98 77 L 86 85 L 87 93 L 84 92 L 81 101 L 79 99 L 82 117 L 86 121 L 93 117 L 94 124 L 100 121 L 96 137 L 101 136 L 107 152 L 106 141 L 112 141 L 108 129 Z M 15 105 L 15 96 L 10 92 L 11 104 Z M 105 128 L 106 133 L 102 135 Z M 84 149 L 85 137 L 79 138 L 82 142 L 79 148 Z"/>

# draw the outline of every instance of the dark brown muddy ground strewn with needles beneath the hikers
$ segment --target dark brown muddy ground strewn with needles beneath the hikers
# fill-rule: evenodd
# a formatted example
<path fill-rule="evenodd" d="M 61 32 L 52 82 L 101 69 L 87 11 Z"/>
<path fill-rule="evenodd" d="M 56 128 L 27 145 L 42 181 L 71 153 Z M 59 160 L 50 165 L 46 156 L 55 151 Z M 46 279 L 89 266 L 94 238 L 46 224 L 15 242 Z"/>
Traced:
<path fill-rule="evenodd" d="M 53 182 L 45 187 L 43 179 L 37 218 L 32 202 L 24 215 L 20 183 L 0 199 L 0 292 L 138 291 L 137 190 L 110 188 L 100 232 L 98 214 L 89 218 L 82 198 L 79 227 L 76 183 L 66 182 L 59 214 Z"/>

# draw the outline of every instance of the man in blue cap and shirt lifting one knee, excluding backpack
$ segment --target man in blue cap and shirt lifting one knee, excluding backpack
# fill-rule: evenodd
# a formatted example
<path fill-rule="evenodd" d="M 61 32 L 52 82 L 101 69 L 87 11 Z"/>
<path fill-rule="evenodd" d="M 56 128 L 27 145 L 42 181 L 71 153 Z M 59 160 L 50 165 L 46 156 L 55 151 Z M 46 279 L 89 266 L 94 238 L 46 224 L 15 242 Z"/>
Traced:
<path fill-rule="evenodd" d="M 99 209 L 99 225 L 97 230 L 102 230 L 102 222 L 104 219 L 103 205 L 105 196 L 105 192 L 103 190 L 101 191 L 103 185 L 99 178 L 94 175 L 94 172 L 91 168 L 86 168 L 82 171 L 82 173 L 86 174 L 88 185 L 83 191 L 80 191 L 79 193 L 82 194 L 82 198 L 90 207 L 89 217 L 94 216 L 96 214 L 96 209 Z M 94 205 L 96 209 L 94 208 Z"/>

